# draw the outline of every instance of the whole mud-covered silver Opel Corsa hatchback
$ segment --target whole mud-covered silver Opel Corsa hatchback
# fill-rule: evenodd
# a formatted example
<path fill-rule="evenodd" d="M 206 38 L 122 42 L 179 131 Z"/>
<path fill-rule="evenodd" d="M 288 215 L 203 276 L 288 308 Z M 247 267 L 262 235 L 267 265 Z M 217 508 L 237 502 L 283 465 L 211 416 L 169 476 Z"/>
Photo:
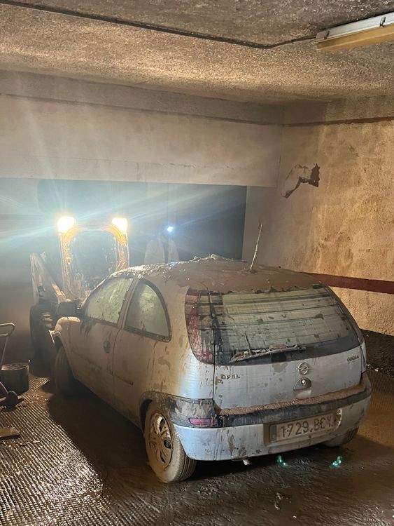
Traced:
<path fill-rule="evenodd" d="M 202 259 L 103 281 L 54 331 L 55 381 L 81 382 L 144 433 L 164 482 L 355 436 L 370 403 L 365 342 L 316 278 Z"/>

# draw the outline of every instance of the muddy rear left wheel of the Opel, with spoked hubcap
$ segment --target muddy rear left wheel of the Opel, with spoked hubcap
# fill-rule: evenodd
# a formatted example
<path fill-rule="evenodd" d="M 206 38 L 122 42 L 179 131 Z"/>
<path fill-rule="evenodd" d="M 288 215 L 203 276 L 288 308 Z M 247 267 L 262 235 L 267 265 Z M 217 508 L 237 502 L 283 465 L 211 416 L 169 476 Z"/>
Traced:
<path fill-rule="evenodd" d="M 157 478 L 173 483 L 192 476 L 197 461 L 185 453 L 167 413 L 154 402 L 148 407 L 144 427 L 146 454 Z"/>

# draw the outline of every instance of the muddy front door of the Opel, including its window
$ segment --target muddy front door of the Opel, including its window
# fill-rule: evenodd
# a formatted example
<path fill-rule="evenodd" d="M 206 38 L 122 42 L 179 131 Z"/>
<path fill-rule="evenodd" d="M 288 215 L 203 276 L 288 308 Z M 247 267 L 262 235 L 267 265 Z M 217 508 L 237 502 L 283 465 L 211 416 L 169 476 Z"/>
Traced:
<path fill-rule="evenodd" d="M 113 351 L 120 311 L 132 277 L 109 278 L 86 300 L 71 335 L 74 375 L 106 402 L 113 404 Z"/>

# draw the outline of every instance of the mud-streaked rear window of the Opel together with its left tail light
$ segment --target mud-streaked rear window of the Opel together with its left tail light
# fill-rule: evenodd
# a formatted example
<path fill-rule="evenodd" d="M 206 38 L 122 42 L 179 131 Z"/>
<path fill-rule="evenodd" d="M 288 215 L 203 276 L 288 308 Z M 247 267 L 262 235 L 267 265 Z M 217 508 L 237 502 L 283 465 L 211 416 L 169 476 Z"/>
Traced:
<path fill-rule="evenodd" d="M 225 294 L 190 290 L 185 306 L 190 345 L 203 361 L 210 356 L 220 364 L 241 363 L 243 356 L 258 353 L 272 360 L 282 352 L 285 360 L 297 359 L 358 346 L 351 321 L 324 286 Z"/>

